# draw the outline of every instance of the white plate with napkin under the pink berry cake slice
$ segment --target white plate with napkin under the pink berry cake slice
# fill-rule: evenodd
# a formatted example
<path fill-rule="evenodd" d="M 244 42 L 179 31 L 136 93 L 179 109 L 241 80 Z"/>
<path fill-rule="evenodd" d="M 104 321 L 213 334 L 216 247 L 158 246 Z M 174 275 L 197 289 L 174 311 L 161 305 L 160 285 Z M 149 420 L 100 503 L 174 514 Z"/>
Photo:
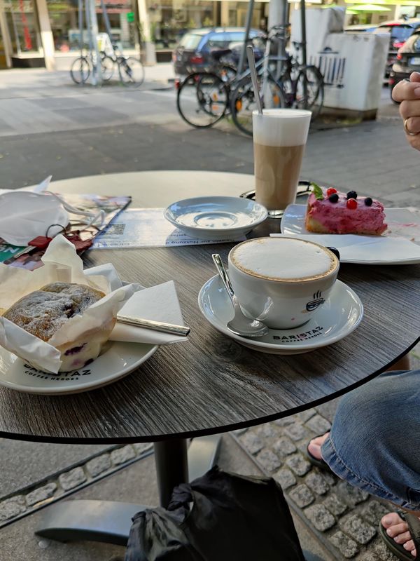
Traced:
<path fill-rule="evenodd" d="M 388 229 L 382 236 L 315 234 L 304 227 L 305 214 L 306 205 L 288 205 L 281 219 L 281 233 L 333 246 L 339 250 L 343 263 L 420 263 L 420 214 L 415 209 L 386 208 Z"/>

